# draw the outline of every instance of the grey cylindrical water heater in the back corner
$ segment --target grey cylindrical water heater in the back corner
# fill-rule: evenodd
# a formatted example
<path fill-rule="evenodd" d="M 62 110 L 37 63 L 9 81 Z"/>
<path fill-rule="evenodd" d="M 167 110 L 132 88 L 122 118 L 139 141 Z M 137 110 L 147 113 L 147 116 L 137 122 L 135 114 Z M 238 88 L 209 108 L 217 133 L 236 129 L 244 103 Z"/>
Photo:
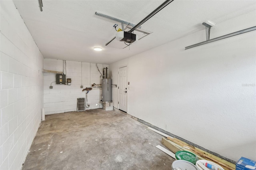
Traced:
<path fill-rule="evenodd" d="M 106 69 L 106 72 L 104 71 Z M 112 80 L 108 78 L 108 67 L 103 69 L 103 78 L 102 78 L 102 94 L 101 101 L 102 103 L 112 102 Z M 106 73 L 106 75 L 104 75 Z"/>

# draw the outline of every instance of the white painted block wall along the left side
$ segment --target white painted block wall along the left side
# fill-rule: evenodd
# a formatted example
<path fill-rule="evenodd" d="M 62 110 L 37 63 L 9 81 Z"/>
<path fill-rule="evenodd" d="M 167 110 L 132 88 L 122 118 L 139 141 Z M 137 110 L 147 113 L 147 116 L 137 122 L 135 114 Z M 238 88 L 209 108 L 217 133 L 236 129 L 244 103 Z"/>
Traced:
<path fill-rule="evenodd" d="M 0 10 L 0 169 L 18 170 L 41 122 L 43 57 L 13 1 Z"/>

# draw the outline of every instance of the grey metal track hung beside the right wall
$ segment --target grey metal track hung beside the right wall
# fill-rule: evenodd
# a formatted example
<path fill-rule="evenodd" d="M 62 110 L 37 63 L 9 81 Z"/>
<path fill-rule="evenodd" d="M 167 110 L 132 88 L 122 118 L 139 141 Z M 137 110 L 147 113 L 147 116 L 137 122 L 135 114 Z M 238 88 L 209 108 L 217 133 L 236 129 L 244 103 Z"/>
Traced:
<path fill-rule="evenodd" d="M 251 28 L 247 28 L 247 29 L 244 29 L 244 30 L 240 30 L 240 31 L 237 31 L 237 32 L 233 32 L 233 33 L 227 34 L 227 35 L 225 35 L 225 36 L 220 36 L 220 37 L 214 38 L 214 39 L 212 39 L 212 40 L 206 40 L 205 42 L 200 42 L 200 43 L 196 43 L 196 44 L 194 44 L 194 45 L 190 45 L 190 46 L 188 46 L 188 47 L 185 47 L 185 50 L 186 50 L 186 49 L 193 48 L 193 47 L 197 47 L 197 46 L 199 46 L 199 45 L 204 45 L 204 44 L 206 44 L 206 43 L 211 43 L 211 42 L 215 42 L 215 41 L 218 41 L 218 40 L 222 40 L 222 39 L 224 39 L 224 38 L 229 38 L 229 37 L 232 37 L 232 36 L 237 36 L 237 35 L 239 35 L 239 34 L 243 34 L 243 33 L 250 32 L 250 31 L 254 31 L 254 30 L 256 30 L 256 26 L 251 27 Z M 209 36 L 210 36 L 210 34 L 209 34 Z"/>

